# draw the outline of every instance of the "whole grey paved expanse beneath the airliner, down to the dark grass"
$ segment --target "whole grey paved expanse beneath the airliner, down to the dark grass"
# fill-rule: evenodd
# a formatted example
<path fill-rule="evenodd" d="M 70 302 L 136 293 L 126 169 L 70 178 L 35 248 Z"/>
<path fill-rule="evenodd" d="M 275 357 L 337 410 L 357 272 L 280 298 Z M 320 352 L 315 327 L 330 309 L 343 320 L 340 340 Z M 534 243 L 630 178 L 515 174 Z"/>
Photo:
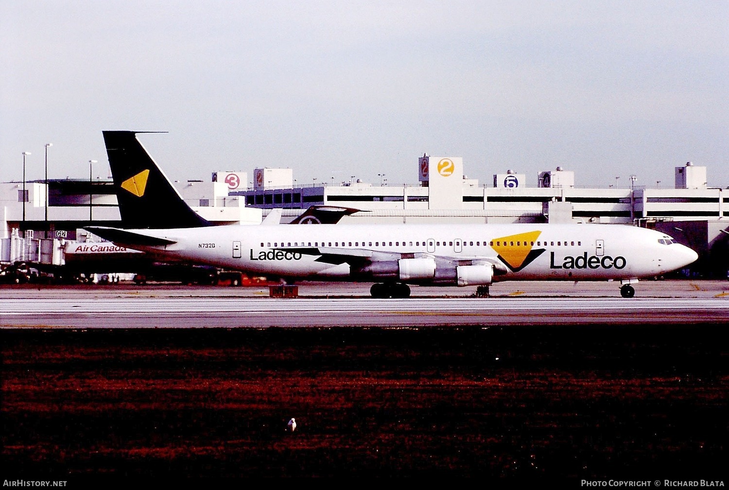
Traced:
<path fill-rule="evenodd" d="M 661 280 L 623 299 L 610 282 L 508 282 L 413 287 L 410 299 L 371 299 L 369 284 L 312 282 L 296 298 L 268 286 L 4 286 L 0 328 L 425 327 L 729 323 L 729 282 Z"/>

